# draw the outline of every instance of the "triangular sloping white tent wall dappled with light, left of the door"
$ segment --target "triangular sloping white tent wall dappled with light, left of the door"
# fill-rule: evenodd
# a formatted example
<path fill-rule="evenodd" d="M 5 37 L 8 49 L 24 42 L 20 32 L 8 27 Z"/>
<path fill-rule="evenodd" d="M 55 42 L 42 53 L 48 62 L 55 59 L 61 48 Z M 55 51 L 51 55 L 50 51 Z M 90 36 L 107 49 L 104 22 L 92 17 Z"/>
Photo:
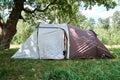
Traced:
<path fill-rule="evenodd" d="M 37 48 L 37 30 L 25 41 L 21 48 L 12 56 L 12 58 L 31 58 L 38 59 Z"/>

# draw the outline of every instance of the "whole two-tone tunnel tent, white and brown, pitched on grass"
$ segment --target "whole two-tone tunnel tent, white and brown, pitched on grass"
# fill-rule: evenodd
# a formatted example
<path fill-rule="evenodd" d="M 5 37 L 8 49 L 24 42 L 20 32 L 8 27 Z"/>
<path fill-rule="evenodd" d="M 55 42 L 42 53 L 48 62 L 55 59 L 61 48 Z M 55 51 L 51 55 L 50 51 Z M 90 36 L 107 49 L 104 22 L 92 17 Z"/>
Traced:
<path fill-rule="evenodd" d="M 93 31 L 68 24 L 40 23 L 12 58 L 91 59 L 114 56 Z"/>

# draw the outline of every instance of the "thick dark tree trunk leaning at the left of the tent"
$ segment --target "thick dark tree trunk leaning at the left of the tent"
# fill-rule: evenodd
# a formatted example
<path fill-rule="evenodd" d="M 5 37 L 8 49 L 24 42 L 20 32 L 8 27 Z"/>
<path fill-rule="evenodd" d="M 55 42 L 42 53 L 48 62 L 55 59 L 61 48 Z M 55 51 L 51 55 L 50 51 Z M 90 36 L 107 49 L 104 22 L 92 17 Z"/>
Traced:
<path fill-rule="evenodd" d="M 16 25 L 21 16 L 21 12 L 23 10 L 24 0 L 13 0 L 14 5 L 11 11 L 10 16 L 7 19 L 7 22 L 3 26 L 3 38 L 0 41 L 0 49 L 9 49 L 10 42 L 13 39 L 13 36 L 16 34 Z"/>

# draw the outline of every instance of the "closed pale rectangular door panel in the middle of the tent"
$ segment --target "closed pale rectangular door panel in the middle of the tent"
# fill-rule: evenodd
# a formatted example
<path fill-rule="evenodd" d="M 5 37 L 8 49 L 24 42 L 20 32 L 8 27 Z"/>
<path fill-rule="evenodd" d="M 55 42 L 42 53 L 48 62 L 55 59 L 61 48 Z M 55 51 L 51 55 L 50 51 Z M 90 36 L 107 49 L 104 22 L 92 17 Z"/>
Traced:
<path fill-rule="evenodd" d="M 40 59 L 64 59 L 64 30 L 55 27 L 39 27 L 37 35 Z"/>

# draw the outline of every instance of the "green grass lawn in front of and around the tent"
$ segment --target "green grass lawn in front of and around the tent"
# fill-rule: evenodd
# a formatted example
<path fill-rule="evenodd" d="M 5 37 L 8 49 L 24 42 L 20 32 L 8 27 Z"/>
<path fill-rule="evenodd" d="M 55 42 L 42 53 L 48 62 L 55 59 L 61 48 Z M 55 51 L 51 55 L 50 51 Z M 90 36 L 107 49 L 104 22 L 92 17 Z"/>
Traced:
<path fill-rule="evenodd" d="M 120 80 L 120 49 L 115 59 L 11 59 L 17 49 L 0 51 L 0 80 Z"/>

